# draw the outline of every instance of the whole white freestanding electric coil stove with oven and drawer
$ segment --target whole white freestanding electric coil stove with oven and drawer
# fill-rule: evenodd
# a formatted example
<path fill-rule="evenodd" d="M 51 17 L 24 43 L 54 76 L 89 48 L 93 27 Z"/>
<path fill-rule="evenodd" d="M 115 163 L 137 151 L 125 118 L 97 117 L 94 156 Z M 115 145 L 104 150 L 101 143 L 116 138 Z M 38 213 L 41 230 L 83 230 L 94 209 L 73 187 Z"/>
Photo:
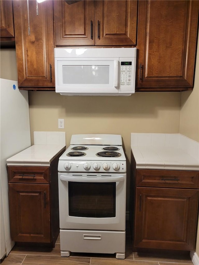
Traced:
<path fill-rule="evenodd" d="M 121 135 L 72 135 L 59 158 L 61 256 L 125 258 L 126 158 Z"/>

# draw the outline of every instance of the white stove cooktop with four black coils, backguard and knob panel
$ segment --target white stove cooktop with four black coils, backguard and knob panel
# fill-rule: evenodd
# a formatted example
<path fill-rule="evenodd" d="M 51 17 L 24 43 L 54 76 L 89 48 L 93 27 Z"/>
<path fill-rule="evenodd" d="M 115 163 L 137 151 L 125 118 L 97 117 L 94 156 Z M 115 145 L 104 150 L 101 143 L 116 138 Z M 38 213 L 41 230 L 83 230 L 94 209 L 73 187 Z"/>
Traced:
<path fill-rule="evenodd" d="M 126 172 L 121 135 L 72 135 L 58 162 L 59 172 Z"/>

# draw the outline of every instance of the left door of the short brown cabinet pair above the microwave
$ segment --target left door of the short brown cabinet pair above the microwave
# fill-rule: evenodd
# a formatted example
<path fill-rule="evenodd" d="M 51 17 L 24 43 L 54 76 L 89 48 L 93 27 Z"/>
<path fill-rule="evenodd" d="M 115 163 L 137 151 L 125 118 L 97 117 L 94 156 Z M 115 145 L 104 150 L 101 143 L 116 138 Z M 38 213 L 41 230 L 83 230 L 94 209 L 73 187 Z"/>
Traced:
<path fill-rule="evenodd" d="M 94 1 L 54 1 L 53 11 L 56 46 L 95 44 Z"/>

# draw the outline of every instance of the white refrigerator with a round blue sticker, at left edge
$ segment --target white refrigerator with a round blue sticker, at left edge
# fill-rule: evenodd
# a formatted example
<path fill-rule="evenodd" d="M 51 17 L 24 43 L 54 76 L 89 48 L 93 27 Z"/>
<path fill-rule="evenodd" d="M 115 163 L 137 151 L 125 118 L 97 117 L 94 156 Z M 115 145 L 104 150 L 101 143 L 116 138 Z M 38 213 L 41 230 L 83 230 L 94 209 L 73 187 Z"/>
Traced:
<path fill-rule="evenodd" d="M 1 258 L 14 243 L 10 235 L 7 158 L 30 146 L 28 92 L 18 89 L 17 81 L 1 78 Z"/>

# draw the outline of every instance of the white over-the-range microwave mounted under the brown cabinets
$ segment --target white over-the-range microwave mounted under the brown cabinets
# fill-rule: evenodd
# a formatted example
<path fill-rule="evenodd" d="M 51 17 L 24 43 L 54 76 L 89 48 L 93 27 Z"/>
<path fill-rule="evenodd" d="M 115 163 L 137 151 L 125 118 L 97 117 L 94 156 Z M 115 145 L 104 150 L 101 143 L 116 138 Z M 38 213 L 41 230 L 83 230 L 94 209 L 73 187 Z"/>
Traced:
<path fill-rule="evenodd" d="M 135 93 L 136 48 L 55 48 L 55 91 L 61 95 Z"/>

